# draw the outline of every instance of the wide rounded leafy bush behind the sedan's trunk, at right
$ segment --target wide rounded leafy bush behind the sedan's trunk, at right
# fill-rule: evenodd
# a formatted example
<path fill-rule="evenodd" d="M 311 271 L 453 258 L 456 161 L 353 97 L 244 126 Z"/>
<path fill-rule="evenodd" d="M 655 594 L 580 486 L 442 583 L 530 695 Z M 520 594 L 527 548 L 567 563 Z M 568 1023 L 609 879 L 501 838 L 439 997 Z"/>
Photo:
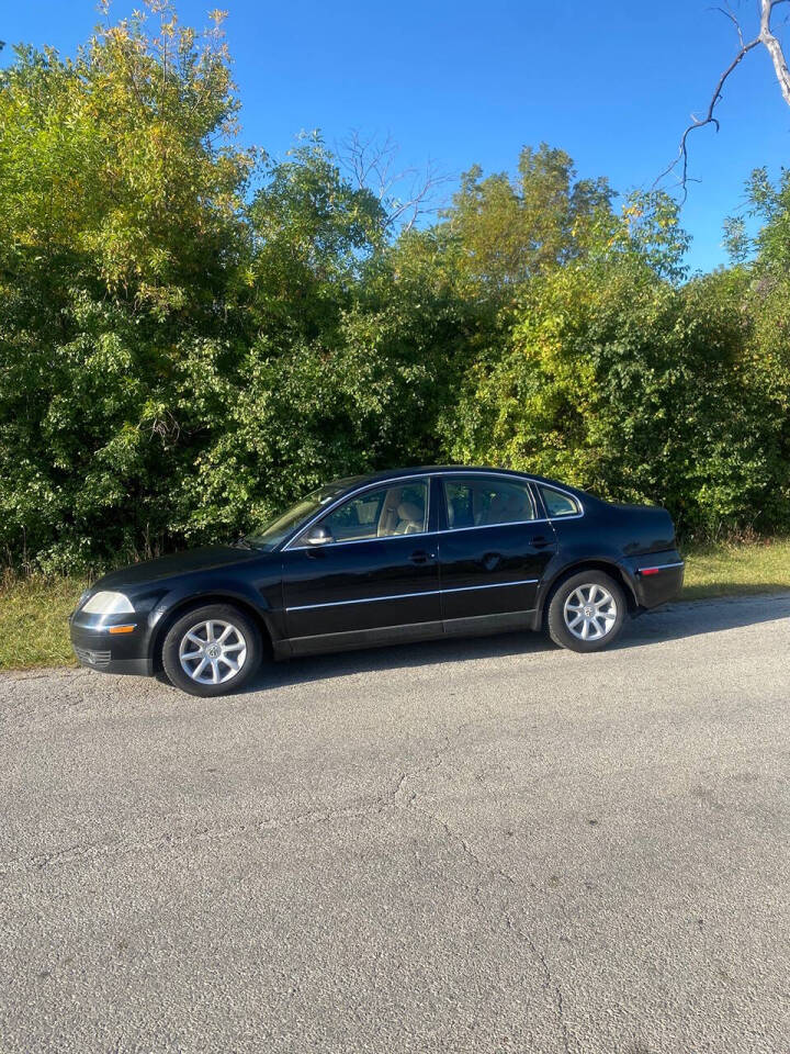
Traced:
<path fill-rule="evenodd" d="M 708 282 L 633 260 L 565 267 L 531 285 L 504 354 L 472 368 L 452 453 L 659 502 L 701 536 L 788 526 L 785 416 L 749 338 Z"/>

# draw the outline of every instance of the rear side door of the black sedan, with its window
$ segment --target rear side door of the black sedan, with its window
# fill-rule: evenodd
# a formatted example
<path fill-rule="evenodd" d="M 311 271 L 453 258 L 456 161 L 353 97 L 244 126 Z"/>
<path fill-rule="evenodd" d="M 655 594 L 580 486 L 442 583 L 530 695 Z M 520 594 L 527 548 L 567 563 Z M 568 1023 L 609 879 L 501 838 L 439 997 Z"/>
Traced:
<path fill-rule="evenodd" d="M 441 478 L 439 538 L 447 632 L 528 625 L 538 585 L 556 552 L 552 525 L 527 480 L 475 473 Z"/>

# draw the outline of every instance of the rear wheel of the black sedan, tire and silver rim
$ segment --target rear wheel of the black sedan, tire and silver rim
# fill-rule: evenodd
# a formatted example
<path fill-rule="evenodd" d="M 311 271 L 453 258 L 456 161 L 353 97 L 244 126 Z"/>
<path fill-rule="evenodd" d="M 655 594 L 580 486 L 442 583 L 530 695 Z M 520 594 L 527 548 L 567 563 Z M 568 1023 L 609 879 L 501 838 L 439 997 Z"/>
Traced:
<path fill-rule="evenodd" d="M 588 601 L 585 604 L 580 598 L 587 593 L 588 587 L 592 590 L 587 594 L 591 597 L 591 603 Z M 603 594 L 608 594 L 611 604 L 606 602 Z M 566 604 L 568 604 L 567 609 Z M 578 617 L 574 614 L 575 612 L 579 613 Z M 620 636 L 627 612 L 625 594 L 614 579 L 605 574 L 603 571 L 579 571 L 562 581 L 552 594 L 546 619 L 549 636 L 555 644 L 568 648 L 571 651 L 600 651 L 602 648 L 608 648 Z M 574 624 L 576 632 L 571 628 Z M 587 624 L 587 632 L 590 635 L 600 632 L 600 636 L 595 638 L 590 636 L 589 639 L 577 636 L 585 632 L 585 624 Z"/>

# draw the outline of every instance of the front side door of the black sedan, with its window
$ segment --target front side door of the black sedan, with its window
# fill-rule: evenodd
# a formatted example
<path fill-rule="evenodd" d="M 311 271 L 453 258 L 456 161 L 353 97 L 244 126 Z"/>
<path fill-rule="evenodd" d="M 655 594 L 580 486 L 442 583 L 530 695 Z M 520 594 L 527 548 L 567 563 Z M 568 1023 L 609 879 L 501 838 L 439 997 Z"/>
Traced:
<path fill-rule="evenodd" d="M 294 652 L 441 633 L 428 476 L 364 487 L 283 551 Z M 323 537 L 319 543 L 309 539 Z"/>

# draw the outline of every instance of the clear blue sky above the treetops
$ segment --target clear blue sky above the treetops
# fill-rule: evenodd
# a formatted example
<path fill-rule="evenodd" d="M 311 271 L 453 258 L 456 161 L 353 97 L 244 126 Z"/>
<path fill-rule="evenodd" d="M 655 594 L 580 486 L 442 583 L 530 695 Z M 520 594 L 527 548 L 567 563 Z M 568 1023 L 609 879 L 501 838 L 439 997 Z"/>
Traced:
<path fill-rule="evenodd" d="M 181 0 L 178 10 L 182 22 L 203 26 L 213 5 Z M 320 128 L 329 143 L 351 128 L 390 133 L 404 164 L 430 157 L 458 175 L 475 162 L 512 169 L 523 144 L 545 141 L 567 150 L 580 175 L 608 176 L 622 191 L 652 183 L 734 54 L 734 29 L 712 5 L 219 3 L 228 10 L 245 142 L 282 155 L 301 130 Z M 119 0 L 112 10 L 120 18 L 133 7 Z M 753 30 L 756 2 L 733 0 L 733 9 Z M 0 8 L 0 38 L 71 53 L 98 19 L 92 0 L 9 2 Z M 10 57 L 7 47 L 0 58 Z M 692 268 L 725 262 L 722 220 L 743 203 L 749 171 L 768 165 L 776 172 L 788 155 L 790 109 L 763 48 L 735 74 L 720 117 L 718 135 L 709 128 L 691 141 L 691 171 L 701 180 L 684 209 Z"/>

